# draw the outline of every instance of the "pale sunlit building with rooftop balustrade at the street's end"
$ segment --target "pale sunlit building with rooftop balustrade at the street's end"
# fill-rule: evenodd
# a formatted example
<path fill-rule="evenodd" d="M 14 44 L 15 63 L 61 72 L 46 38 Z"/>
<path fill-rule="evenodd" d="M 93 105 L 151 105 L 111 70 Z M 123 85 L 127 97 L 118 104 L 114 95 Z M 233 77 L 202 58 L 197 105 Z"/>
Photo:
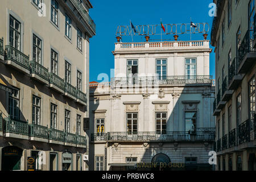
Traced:
<path fill-rule="evenodd" d="M 212 169 L 211 51 L 209 40 L 115 43 L 114 78 L 90 83 L 89 169 Z"/>

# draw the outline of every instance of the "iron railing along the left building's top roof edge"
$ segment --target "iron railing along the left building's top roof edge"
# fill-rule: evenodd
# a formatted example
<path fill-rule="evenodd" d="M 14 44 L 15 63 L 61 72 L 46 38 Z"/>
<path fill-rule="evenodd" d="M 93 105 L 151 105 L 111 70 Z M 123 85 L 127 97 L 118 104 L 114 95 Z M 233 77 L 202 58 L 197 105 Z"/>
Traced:
<path fill-rule="evenodd" d="M 70 0 L 73 5 L 76 7 L 76 9 L 81 14 L 82 18 L 89 24 L 89 26 L 92 28 L 94 33 L 96 32 L 96 24 L 93 22 L 92 18 L 90 18 L 89 14 L 85 10 L 84 6 L 82 6 L 82 3 L 80 0 Z"/>

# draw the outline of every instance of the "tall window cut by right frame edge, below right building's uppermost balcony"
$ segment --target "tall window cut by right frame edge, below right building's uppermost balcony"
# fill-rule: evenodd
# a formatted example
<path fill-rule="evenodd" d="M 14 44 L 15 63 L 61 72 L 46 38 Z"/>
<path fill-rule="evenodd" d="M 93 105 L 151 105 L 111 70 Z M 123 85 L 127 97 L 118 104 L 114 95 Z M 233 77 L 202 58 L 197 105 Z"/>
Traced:
<path fill-rule="evenodd" d="M 250 130 L 253 130 L 255 114 L 255 76 L 253 76 L 253 78 L 251 78 L 251 80 L 249 81 L 249 112 Z"/>

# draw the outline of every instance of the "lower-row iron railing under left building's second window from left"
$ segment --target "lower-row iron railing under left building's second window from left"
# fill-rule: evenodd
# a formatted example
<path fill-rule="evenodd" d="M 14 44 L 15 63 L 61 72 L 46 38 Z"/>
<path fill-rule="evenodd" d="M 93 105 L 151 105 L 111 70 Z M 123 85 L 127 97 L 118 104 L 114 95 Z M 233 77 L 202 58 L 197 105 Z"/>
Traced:
<path fill-rule="evenodd" d="M 49 137 L 48 127 L 40 126 L 40 125 L 36 125 L 35 123 L 32 123 L 30 125 L 30 137 L 48 139 Z"/>

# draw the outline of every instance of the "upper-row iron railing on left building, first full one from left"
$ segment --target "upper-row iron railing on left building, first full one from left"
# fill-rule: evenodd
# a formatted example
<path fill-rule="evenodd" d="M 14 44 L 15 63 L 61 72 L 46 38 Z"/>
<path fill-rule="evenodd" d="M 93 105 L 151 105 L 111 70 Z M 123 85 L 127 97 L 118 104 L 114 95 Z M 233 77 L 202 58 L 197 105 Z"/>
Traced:
<path fill-rule="evenodd" d="M 14 63 L 22 66 L 23 68 L 26 68 L 28 70 L 30 69 L 29 56 L 25 55 L 24 53 L 20 52 L 18 49 L 10 45 L 5 46 L 5 51 L 5 60 L 14 61 Z"/>

